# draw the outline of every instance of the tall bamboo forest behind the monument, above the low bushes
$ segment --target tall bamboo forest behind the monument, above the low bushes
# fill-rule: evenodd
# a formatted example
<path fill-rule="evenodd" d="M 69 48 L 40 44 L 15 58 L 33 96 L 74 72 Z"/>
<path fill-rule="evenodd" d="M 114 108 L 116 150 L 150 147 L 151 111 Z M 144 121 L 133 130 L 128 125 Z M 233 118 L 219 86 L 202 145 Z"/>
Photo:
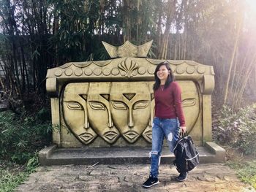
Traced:
<path fill-rule="evenodd" d="M 1 0 L 0 7 L 0 85 L 18 104 L 46 99 L 48 69 L 108 59 L 101 41 L 151 39 L 149 58 L 214 66 L 220 106 L 236 111 L 244 96 L 255 101 L 253 0 Z"/>

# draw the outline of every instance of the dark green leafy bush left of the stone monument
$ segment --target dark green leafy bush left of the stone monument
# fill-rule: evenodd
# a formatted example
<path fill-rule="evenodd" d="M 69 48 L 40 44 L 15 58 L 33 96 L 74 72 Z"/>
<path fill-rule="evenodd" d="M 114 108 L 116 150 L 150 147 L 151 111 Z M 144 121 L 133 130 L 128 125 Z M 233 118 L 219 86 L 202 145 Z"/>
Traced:
<path fill-rule="evenodd" d="M 24 164 L 34 151 L 50 142 L 50 119 L 45 109 L 23 118 L 11 111 L 0 112 L 0 158 Z"/>

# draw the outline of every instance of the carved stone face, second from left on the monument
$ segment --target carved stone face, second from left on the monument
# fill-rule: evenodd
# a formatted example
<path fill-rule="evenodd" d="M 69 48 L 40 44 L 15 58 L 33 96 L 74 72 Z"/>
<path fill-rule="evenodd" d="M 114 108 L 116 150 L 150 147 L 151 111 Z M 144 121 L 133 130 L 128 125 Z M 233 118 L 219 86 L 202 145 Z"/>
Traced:
<path fill-rule="evenodd" d="M 113 125 L 110 113 L 110 85 L 111 82 L 90 82 L 87 108 L 91 127 L 111 144 L 116 142 L 120 134 Z"/>

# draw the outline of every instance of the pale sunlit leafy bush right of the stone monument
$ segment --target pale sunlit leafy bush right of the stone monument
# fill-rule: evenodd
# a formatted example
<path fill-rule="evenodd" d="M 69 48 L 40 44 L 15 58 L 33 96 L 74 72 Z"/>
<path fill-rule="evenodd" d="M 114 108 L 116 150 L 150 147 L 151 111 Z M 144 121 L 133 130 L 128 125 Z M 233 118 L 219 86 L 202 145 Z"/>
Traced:
<path fill-rule="evenodd" d="M 236 113 L 225 106 L 216 122 L 213 126 L 214 140 L 237 147 L 246 155 L 256 155 L 256 104 Z"/>

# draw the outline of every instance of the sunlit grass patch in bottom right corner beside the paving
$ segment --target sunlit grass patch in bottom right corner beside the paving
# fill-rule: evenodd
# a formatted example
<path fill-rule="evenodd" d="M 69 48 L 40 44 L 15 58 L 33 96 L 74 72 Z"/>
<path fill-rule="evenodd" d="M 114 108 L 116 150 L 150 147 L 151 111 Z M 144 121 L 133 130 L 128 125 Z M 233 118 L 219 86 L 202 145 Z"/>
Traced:
<path fill-rule="evenodd" d="M 246 162 L 244 164 L 238 162 L 227 163 L 232 169 L 236 169 L 238 177 L 244 183 L 249 183 L 256 189 L 256 161 Z"/>

